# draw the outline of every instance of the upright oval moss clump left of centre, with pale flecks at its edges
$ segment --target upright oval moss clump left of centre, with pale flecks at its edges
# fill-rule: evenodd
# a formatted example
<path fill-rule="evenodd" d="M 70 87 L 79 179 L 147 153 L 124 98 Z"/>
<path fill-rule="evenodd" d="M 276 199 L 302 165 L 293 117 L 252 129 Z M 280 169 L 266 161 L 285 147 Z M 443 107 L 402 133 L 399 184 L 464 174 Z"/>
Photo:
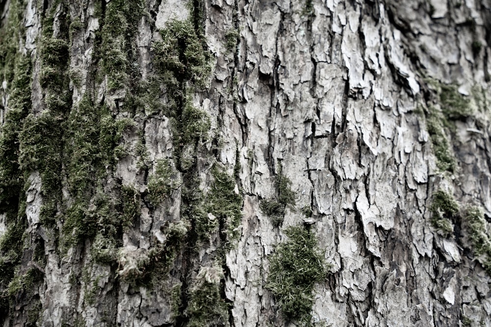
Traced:
<path fill-rule="evenodd" d="M 206 195 L 205 211 L 215 217 L 222 228 L 223 236 L 228 241 L 236 241 L 240 238 L 240 232 L 236 228 L 242 221 L 244 200 L 240 194 L 236 193 L 238 188 L 232 176 L 221 171 L 218 167 L 213 168 L 212 175 L 214 180 Z M 199 228 L 199 224 L 196 228 Z"/>

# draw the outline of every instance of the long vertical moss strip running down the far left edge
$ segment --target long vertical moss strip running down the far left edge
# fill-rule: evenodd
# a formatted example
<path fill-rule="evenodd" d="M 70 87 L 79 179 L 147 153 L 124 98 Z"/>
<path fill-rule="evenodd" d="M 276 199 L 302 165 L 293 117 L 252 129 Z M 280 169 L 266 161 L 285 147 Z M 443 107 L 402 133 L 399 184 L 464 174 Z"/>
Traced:
<path fill-rule="evenodd" d="M 5 217 L 7 230 L 0 238 L 0 316 L 7 317 L 9 307 L 14 311 L 8 295 L 8 285 L 17 274 L 18 265 L 23 254 L 23 234 L 26 226 L 25 217 L 25 172 L 19 165 L 19 135 L 23 120 L 31 107 L 31 59 L 17 53 L 19 39 L 11 24 L 17 24 L 18 1 L 10 3 L 8 24 L 0 30 L 7 30 L 15 47 L 8 45 L 8 39 L 0 37 L 0 73 L 7 82 L 9 98 L 3 124 L 0 126 L 0 214 Z M 22 17 L 22 11 L 20 12 Z M 14 23 L 16 22 L 16 23 Z M 6 29 L 5 29 L 6 28 Z M 9 60 L 8 62 L 3 60 Z"/>

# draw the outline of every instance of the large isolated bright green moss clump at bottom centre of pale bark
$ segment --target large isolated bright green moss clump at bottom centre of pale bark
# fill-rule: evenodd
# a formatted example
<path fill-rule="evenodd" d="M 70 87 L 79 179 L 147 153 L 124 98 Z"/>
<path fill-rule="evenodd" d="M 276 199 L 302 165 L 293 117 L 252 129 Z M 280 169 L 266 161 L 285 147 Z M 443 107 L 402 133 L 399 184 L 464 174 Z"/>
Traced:
<path fill-rule="evenodd" d="M 309 229 L 290 226 L 284 230 L 288 240 L 279 244 L 270 257 L 266 288 L 290 320 L 308 325 L 317 282 L 326 279 L 327 265 Z"/>

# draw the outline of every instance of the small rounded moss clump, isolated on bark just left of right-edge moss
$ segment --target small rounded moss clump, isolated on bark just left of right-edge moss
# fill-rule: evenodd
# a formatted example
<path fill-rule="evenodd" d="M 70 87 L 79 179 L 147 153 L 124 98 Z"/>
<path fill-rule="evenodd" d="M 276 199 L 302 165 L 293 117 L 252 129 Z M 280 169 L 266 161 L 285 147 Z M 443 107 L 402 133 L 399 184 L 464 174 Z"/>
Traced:
<path fill-rule="evenodd" d="M 459 213 L 459 205 L 454 198 L 443 190 L 438 190 L 433 194 L 433 202 L 430 210 L 432 212 L 432 224 L 437 229 L 437 233 L 450 237 L 454 231 L 452 221 Z"/>

